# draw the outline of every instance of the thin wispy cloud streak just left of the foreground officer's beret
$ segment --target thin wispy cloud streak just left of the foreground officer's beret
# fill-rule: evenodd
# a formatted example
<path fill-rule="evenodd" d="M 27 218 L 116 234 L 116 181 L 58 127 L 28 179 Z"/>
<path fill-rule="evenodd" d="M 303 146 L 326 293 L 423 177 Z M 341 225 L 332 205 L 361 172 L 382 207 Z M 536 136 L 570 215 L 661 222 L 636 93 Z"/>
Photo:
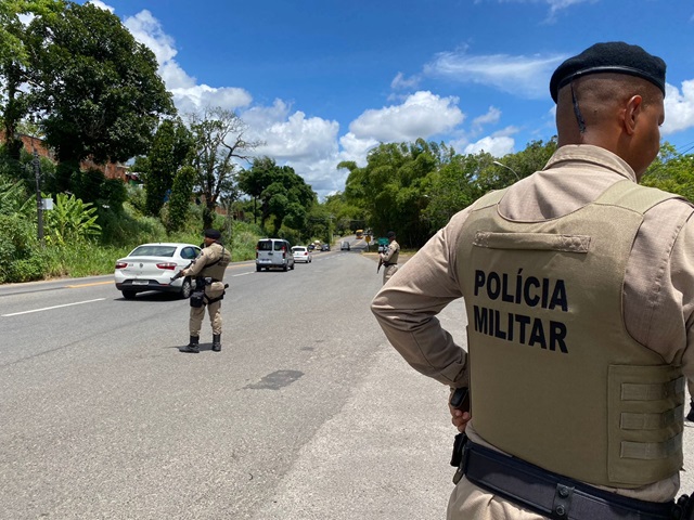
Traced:
<path fill-rule="evenodd" d="M 460 82 L 494 87 L 522 98 L 547 98 L 552 73 L 567 56 L 536 54 L 467 55 L 464 52 L 442 52 L 424 66 L 424 74 Z"/>

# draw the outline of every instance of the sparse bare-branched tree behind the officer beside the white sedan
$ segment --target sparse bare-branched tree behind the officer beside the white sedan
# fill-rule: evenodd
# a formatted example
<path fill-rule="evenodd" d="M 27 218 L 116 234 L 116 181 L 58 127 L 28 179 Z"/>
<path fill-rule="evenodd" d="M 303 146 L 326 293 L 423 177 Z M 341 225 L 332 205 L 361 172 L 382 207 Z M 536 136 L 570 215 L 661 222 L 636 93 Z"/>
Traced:
<path fill-rule="evenodd" d="M 233 112 L 222 107 L 205 108 L 188 115 L 193 134 L 192 166 L 196 187 L 203 198 L 203 229 L 210 227 L 220 196 L 229 204 L 236 198 L 235 159 L 248 159 L 259 141 L 246 141 L 247 126 Z"/>

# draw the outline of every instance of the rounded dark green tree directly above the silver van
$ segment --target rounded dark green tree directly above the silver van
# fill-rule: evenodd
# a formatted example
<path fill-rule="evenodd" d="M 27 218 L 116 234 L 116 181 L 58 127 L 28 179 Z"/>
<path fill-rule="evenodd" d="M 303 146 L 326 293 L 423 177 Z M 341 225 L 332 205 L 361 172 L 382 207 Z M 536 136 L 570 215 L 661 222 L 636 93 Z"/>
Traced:
<path fill-rule="evenodd" d="M 239 187 L 260 202 L 260 226 L 273 219 L 273 234 L 284 223 L 294 230 L 307 224 L 307 211 L 317 202 L 311 186 L 291 166 L 278 166 L 270 157 L 254 159 L 253 166 L 239 176 Z"/>

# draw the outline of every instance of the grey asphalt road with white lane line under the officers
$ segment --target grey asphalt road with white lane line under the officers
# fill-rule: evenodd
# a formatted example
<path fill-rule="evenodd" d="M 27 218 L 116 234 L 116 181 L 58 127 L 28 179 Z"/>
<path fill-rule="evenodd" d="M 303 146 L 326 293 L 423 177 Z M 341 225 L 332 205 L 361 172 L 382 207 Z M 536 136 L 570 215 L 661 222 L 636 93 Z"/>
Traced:
<path fill-rule="evenodd" d="M 112 276 L 0 286 L 0 519 L 445 518 L 448 391 L 385 343 L 372 259 L 227 271 L 222 351 Z M 464 344 L 464 307 L 444 325 Z M 685 429 L 683 491 L 694 463 Z"/>

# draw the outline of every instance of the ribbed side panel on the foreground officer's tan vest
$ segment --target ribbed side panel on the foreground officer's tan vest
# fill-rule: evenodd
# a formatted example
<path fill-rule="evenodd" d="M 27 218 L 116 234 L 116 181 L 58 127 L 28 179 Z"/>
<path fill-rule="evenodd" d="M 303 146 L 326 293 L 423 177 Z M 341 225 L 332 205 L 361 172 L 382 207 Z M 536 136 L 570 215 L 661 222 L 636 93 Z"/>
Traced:
<path fill-rule="evenodd" d="M 679 471 L 684 377 L 669 365 L 611 365 L 608 386 L 609 480 L 645 484 Z"/>

